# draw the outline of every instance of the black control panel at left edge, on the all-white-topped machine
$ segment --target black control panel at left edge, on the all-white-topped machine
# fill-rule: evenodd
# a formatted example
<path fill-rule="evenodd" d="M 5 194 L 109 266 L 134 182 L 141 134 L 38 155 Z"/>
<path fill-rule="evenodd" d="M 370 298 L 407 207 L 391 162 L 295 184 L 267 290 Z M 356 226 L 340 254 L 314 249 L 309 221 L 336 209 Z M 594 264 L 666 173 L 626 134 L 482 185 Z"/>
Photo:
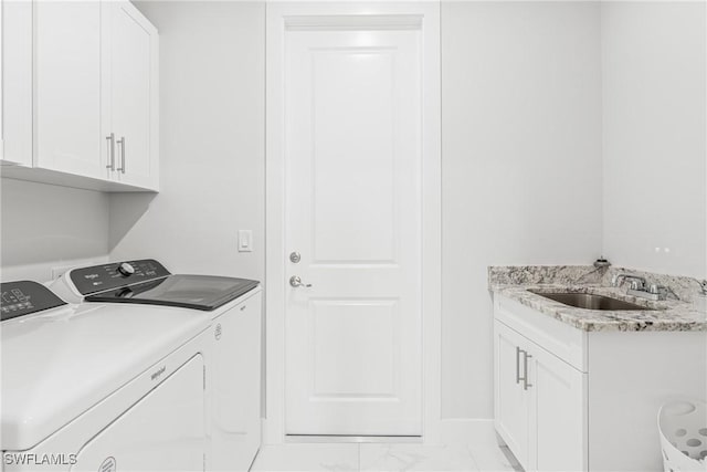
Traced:
<path fill-rule="evenodd" d="M 54 292 L 36 282 L 7 282 L 0 284 L 0 313 L 3 322 L 66 304 Z"/>

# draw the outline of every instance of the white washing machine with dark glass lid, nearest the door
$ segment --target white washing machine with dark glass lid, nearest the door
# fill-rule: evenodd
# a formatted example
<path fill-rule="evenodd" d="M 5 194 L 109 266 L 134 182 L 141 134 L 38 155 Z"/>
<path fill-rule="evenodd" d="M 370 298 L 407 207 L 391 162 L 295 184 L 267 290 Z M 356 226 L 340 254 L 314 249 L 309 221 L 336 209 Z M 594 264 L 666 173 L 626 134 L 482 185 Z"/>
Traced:
<path fill-rule="evenodd" d="M 257 281 L 170 273 L 154 259 L 76 268 L 51 287 L 64 300 L 189 311 L 209 324 L 204 352 L 209 471 L 247 471 L 261 445 L 262 289 Z"/>

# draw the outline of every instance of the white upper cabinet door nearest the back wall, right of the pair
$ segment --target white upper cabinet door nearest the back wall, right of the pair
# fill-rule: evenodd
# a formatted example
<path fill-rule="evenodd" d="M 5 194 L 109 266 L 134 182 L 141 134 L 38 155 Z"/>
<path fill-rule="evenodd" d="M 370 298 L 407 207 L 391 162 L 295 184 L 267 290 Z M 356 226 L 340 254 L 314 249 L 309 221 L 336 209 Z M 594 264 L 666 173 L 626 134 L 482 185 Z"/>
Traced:
<path fill-rule="evenodd" d="M 130 2 L 109 6 L 116 176 L 128 185 L 157 189 L 157 30 Z"/>

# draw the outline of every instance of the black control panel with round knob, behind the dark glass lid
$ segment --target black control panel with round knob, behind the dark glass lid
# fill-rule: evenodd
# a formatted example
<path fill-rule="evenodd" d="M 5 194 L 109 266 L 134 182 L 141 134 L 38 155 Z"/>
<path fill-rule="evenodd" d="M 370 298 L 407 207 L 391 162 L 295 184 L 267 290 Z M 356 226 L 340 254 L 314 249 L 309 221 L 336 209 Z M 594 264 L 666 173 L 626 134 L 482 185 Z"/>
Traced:
<path fill-rule="evenodd" d="M 170 275 L 162 264 L 154 259 L 113 262 L 91 268 L 74 269 L 70 277 L 82 295 L 120 289 Z"/>

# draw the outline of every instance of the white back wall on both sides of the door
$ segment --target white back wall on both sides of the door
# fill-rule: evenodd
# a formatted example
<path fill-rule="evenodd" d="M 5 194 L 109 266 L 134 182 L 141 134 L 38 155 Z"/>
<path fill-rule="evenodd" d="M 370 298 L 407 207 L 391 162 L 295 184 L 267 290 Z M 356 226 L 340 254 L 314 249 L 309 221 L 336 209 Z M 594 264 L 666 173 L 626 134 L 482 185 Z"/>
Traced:
<path fill-rule="evenodd" d="M 262 279 L 264 7 L 137 4 L 160 30 L 162 190 L 112 197 L 112 256 Z M 599 10 L 449 3 L 442 22 L 443 415 L 490 418 L 486 265 L 601 248 Z"/>

